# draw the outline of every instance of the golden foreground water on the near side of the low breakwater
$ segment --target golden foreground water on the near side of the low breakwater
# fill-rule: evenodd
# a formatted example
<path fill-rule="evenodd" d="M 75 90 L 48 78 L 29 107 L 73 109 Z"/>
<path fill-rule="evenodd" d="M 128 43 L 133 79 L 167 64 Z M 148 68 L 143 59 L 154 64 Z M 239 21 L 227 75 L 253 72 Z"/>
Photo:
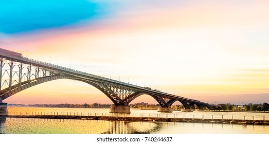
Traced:
<path fill-rule="evenodd" d="M 268 134 L 269 125 L 108 121 L 78 119 L 0 118 L 0 133 L 9 134 L 189 134 L 250 133 Z"/>

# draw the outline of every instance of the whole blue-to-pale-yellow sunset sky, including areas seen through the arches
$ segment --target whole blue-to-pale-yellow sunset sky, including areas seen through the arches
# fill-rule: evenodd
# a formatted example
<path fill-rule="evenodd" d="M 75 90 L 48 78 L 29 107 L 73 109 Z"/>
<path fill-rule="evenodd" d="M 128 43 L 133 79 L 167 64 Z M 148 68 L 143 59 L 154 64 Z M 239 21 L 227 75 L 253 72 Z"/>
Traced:
<path fill-rule="evenodd" d="M 210 104 L 269 103 L 268 5 L 0 1 L 0 47 Z M 132 103 L 141 101 L 157 103 L 147 95 Z M 95 87 L 66 79 L 28 88 L 4 102 L 112 103 Z"/>

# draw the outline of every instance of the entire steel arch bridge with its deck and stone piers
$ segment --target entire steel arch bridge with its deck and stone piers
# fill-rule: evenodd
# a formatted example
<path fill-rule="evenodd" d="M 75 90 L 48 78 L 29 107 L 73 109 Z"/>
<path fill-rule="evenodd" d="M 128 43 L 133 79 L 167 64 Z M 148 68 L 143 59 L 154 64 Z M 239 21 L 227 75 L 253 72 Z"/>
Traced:
<path fill-rule="evenodd" d="M 141 95 L 150 95 L 160 105 L 158 112 L 172 112 L 170 106 L 180 101 L 185 111 L 209 108 L 211 105 L 194 99 L 160 92 L 157 89 L 137 86 L 79 70 L 23 57 L 21 53 L 0 48 L 0 115 L 7 113 L 3 100 L 29 87 L 58 79 L 78 80 L 99 89 L 114 103 L 111 113 L 131 113 L 129 103 Z"/>

